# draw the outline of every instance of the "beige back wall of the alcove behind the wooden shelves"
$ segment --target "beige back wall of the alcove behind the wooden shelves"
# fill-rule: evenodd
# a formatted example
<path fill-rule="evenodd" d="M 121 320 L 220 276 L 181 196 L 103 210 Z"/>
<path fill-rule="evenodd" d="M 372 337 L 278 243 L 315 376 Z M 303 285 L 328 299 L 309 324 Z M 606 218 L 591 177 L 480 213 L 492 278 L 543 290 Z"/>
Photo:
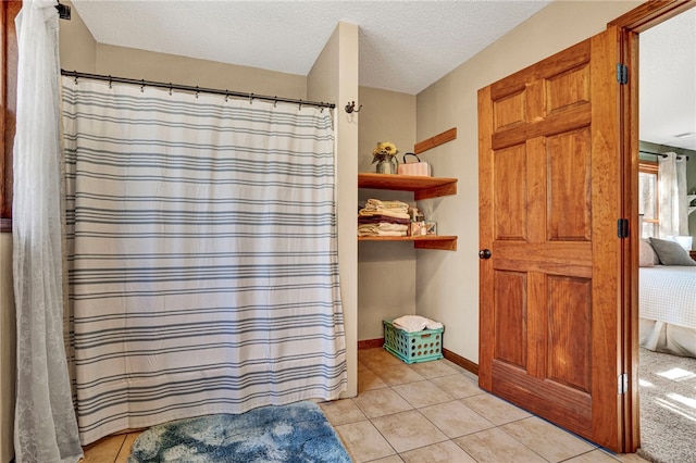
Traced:
<path fill-rule="evenodd" d="M 343 102 L 343 101 L 341 101 Z M 399 161 L 415 143 L 415 96 L 360 87 L 359 172 L 374 172 L 372 149 L 393 141 Z M 361 189 L 369 198 L 394 199 L 415 205 L 413 193 Z M 358 245 L 358 339 L 384 337 L 382 321 L 415 313 L 415 250 L 410 242 L 361 241 Z"/>

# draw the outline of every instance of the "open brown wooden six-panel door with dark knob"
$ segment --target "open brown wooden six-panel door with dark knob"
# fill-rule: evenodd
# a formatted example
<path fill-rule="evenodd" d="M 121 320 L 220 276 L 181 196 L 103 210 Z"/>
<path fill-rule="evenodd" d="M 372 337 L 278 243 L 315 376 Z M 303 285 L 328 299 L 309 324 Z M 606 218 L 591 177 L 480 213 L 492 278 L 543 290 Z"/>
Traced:
<path fill-rule="evenodd" d="M 623 451 L 619 32 L 478 91 L 480 386 Z"/>

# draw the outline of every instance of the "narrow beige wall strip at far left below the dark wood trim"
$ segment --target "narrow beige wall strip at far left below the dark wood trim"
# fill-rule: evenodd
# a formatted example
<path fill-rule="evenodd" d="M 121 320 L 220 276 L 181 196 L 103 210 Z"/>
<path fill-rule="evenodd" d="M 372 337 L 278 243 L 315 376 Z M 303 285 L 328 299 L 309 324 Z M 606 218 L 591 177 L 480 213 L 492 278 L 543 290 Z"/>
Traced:
<path fill-rule="evenodd" d="M 0 461 L 14 456 L 14 289 L 12 234 L 0 234 Z"/>

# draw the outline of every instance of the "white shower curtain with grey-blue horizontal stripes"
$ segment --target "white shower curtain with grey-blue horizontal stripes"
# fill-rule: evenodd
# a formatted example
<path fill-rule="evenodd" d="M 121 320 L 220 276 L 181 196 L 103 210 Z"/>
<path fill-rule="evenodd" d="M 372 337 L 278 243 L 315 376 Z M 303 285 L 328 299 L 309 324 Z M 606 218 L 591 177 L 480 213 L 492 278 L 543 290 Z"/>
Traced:
<path fill-rule="evenodd" d="M 331 115 L 63 78 L 83 443 L 346 388 Z"/>

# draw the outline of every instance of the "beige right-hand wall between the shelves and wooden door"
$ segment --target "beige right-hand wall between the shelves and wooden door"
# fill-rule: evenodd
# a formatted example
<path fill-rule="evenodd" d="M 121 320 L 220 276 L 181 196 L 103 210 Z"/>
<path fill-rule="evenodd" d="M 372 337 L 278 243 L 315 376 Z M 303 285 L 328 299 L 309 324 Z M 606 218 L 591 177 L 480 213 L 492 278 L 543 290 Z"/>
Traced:
<path fill-rule="evenodd" d="M 458 138 L 426 152 L 434 175 L 459 178 L 458 195 L 422 201 L 457 252 L 418 251 L 418 313 L 445 324 L 444 345 L 478 362 L 478 150 L 476 92 L 606 29 L 638 1 L 555 1 L 418 95 L 418 139 L 457 127 Z"/>

